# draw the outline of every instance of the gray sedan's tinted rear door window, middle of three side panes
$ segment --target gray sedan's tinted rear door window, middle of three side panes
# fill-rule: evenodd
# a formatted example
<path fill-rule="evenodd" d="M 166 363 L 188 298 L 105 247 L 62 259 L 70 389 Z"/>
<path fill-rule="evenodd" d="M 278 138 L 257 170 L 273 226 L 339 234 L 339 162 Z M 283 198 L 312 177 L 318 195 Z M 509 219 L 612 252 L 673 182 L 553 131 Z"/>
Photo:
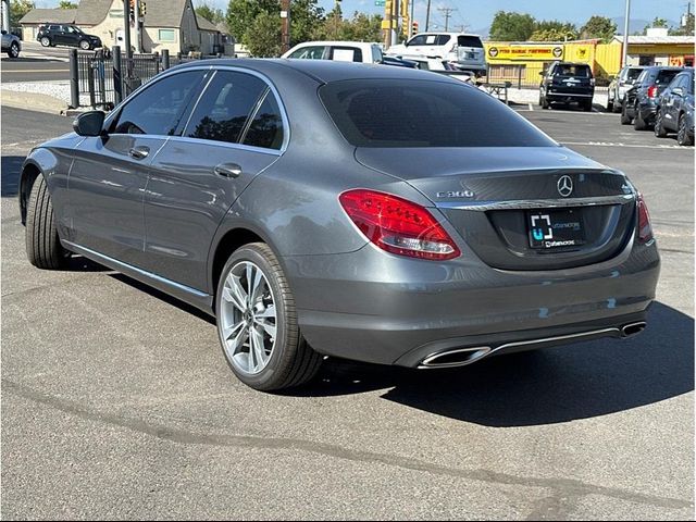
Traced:
<path fill-rule="evenodd" d="M 236 144 L 266 85 L 256 76 L 219 71 L 194 110 L 186 136 Z"/>

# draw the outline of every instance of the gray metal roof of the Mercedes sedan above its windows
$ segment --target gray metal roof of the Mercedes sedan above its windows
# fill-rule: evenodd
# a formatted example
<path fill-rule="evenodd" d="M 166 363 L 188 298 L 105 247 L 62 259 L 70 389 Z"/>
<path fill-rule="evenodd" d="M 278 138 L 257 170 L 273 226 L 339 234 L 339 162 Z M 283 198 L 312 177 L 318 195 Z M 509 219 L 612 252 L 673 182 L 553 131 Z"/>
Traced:
<path fill-rule="evenodd" d="M 271 79 L 286 76 L 288 72 L 302 73 L 314 80 L 327 84 L 343 79 L 374 78 L 374 79 L 430 79 L 461 84 L 461 82 L 448 78 L 445 75 L 420 71 L 410 67 L 395 67 L 373 63 L 340 62 L 334 60 L 300 60 L 291 58 L 263 59 L 263 58 L 241 58 L 241 59 L 217 59 L 217 60 L 196 60 L 176 66 L 176 70 L 185 70 L 209 65 L 215 67 L 239 67 L 256 71 L 269 76 Z"/>

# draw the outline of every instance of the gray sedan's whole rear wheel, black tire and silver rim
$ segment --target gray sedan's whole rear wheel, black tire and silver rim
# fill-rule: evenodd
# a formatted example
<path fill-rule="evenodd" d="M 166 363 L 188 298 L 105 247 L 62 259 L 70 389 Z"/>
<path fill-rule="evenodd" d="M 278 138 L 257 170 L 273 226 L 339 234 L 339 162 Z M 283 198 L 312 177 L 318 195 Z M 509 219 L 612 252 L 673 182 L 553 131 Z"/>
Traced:
<path fill-rule="evenodd" d="M 299 332 L 295 299 L 268 245 L 252 243 L 229 257 L 215 314 L 223 355 L 247 386 L 279 390 L 304 384 L 319 371 L 322 357 Z"/>

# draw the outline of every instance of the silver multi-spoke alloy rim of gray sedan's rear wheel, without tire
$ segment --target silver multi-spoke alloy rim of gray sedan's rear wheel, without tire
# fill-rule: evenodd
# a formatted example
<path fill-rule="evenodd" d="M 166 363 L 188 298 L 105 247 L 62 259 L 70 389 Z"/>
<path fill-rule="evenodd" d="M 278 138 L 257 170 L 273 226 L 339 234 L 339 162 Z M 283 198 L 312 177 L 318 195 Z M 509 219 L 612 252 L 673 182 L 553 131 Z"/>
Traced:
<path fill-rule="evenodd" d="M 273 355 L 277 315 L 271 286 L 258 265 L 241 261 L 232 268 L 220 315 L 227 360 L 245 374 L 259 374 Z"/>

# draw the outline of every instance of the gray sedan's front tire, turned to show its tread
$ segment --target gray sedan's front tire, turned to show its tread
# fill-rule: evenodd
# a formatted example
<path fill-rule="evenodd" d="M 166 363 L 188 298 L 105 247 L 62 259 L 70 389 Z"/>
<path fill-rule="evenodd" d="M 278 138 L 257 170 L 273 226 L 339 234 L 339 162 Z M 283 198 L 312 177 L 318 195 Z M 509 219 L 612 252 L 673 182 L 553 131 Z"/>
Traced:
<path fill-rule="evenodd" d="M 60 269 L 70 257 L 58 237 L 51 196 L 40 174 L 34 182 L 27 203 L 25 243 L 26 256 L 37 269 Z"/>

